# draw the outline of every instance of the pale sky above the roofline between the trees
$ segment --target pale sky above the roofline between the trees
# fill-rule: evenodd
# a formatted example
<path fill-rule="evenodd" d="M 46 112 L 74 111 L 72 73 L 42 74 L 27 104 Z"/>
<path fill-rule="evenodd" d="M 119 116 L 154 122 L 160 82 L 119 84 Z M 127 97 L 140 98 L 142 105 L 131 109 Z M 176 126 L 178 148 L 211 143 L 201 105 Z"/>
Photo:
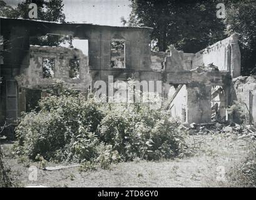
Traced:
<path fill-rule="evenodd" d="M 23 0 L 4 0 L 16 6 Z M 122 26 L 121 17 L 129 17 L 129 0 L 63 0 L 67 22 L 84 22 L 109 26 Z"/>

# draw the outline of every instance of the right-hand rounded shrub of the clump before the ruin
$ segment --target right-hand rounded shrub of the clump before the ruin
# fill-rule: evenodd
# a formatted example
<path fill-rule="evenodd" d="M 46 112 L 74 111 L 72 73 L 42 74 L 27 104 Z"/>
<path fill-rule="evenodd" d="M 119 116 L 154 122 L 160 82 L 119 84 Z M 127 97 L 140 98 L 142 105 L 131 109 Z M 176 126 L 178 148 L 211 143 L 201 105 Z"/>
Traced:
<path fill-rule="evenodd" d="M 110 106 L 101 121 L 100 140 L 118 151 L 121 159 L 160 159 L 178 156 L 185 149 L 179 123 L 160 109 L 140 106 Z"/>

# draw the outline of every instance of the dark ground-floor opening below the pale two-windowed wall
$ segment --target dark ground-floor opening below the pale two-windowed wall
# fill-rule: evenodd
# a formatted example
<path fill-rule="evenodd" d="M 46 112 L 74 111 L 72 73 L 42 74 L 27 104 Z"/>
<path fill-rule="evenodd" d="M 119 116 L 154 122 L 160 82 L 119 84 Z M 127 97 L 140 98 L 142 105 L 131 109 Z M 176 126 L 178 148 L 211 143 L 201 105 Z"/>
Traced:
<path fill-rule="evenodd" d="M 39 111 L 38 101 L 41 99 L 40 89 L 26 89 L 26 112 Z"/>

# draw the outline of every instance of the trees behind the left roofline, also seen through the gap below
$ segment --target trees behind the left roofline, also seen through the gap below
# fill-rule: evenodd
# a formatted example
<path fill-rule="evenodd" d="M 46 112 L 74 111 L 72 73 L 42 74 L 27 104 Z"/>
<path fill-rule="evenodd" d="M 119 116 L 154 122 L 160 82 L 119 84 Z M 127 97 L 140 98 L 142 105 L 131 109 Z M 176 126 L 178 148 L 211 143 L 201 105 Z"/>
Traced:
<path fill-rule="evenodd" d="M 2 16 L 29 19 L 29 4 L 35 3 L 38 6 L 38 20 L 64 22 L 63 0 L 26 0 L 18 4 L 16 8 L 8 6 L 6 2 L 0 1 Z M 48 35 L 31 38 L 32 45 L 58 46 L 61 42 L 67 41 L 68 36 Z"/>

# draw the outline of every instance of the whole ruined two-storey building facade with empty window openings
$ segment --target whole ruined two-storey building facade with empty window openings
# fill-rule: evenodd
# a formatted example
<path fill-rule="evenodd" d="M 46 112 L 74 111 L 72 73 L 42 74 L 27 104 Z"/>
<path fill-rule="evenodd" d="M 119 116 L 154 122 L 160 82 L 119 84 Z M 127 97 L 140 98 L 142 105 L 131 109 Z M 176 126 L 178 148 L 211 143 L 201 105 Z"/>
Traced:
<path fill-rule="evenodd" d="M 86 93 L 96 81 L 108 83 L 108 76 L 113 76 L 114 81 L 162 81 L 163 106 L 183 123 L 225 121 L 232 103 L 232 78 L 240 76 L 238 34 L 193 54 L 172 47 L 151 52 L 151 31 L 1 18 L 2 120 L 28 111 L 29 89 L 39 91 L 41 98 L 61 81 L 66 88 Z M 29 44 L 30 37 L 46 34 L 87 39 L 88 55 L 74 48 Z"/>

